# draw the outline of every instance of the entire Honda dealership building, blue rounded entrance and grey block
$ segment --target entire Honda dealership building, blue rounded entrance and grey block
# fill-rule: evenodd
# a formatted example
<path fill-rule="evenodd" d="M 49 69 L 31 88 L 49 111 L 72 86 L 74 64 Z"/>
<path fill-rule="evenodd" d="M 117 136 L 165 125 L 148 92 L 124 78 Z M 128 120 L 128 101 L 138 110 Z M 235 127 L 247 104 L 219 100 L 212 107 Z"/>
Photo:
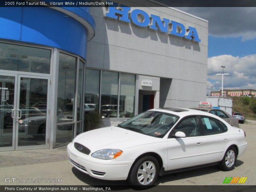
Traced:
<path fill-rule="evenodd" d="M 90 112 L 108 126 L 206 100 L 208 21 L 125 5 L 0 7 L 0 151 L 66 145 Z"/>

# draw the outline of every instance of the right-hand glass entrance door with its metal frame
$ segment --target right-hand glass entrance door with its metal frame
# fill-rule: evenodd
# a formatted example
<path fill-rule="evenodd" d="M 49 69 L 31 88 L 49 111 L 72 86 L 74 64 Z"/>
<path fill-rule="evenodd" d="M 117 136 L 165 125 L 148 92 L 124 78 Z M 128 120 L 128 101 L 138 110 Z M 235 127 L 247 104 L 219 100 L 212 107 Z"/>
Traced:
<path fill-rule="evenodd" d="M 16 149 L 46 148 L 49 77 L 18 75 Z"/>

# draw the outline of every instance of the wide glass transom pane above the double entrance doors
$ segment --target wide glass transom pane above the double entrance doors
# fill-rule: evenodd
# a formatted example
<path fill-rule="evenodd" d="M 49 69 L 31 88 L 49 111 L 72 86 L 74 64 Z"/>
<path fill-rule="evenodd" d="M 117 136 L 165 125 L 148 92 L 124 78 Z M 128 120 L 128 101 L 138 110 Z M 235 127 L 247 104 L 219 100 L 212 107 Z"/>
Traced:
<path fill-rule="evenodd" d="M 50 74 L 51 51 L 0 43 L 0 69 Z"/>

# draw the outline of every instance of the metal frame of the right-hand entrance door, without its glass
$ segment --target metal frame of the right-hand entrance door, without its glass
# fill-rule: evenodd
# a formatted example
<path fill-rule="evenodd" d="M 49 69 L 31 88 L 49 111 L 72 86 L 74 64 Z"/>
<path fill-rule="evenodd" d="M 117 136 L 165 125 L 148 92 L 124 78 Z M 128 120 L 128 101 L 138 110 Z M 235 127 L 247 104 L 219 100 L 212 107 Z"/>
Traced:
<path fill-rule="evenodd" d="M 49 106 L 50 106 L 50 77 L 49 76 L 35 76 L 35 75 L 22 75 L 18 74 L 17 76 L 17 101 L 16 101 L 16 111 L 19 109 L 20 104 L 20 79 L 21 77 L 25 78 L 34 78 L 34 79 L 47 79 L 47 107 L 46 107 L 46 132 L 45 132 L 45 145 L 30 145 L 30 146 L 18 146 L 18 134 L 19 134 L 19 123 L 18 118 L 15 116 L 16 126 L 15 126 L 15 150 L 25 150 L 25 149 L 42 149 L 48 148 L 49 146 L 49 136 L 50 136 L 50 120 L 49 120 Z"/>

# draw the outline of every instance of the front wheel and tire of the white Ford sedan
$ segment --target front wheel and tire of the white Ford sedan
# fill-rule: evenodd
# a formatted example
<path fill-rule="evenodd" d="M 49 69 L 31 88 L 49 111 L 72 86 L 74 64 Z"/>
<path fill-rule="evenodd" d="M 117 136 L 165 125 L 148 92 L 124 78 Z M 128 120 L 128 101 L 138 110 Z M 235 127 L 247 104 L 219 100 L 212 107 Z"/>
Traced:
<path fill-rule="evenodd" d="M 146 189 L 155 184 L 158 176 L 158 161 L 153 156 L 145 156 L 132 166 L 128 181 L 135 188 Z"/>

